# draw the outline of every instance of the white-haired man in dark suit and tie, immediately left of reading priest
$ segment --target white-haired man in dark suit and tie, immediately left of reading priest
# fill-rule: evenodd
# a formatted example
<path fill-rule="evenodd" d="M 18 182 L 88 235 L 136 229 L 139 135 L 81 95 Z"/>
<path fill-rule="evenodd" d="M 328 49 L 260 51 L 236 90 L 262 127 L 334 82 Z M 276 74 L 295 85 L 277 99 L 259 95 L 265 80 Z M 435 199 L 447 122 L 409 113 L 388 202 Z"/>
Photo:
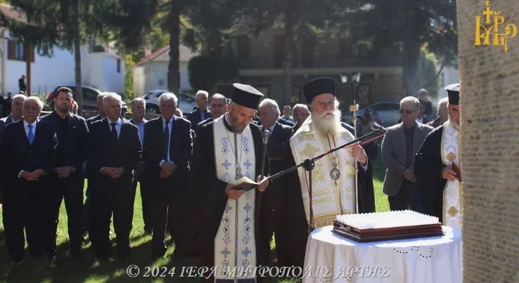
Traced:
<path fill-rule="evenodd" d="M 189 159 L 193 153 L 191 124 L 174 116 L 178 98 L 173 93 L 159 97 L 161 116 L 144 126 L 143 161 L 157 186 L 153 197 L 153 250 L 160 258 L 166 252 L 165 234 L 169 232 L 177 251 L 184 248 L 188 195 Z"/>

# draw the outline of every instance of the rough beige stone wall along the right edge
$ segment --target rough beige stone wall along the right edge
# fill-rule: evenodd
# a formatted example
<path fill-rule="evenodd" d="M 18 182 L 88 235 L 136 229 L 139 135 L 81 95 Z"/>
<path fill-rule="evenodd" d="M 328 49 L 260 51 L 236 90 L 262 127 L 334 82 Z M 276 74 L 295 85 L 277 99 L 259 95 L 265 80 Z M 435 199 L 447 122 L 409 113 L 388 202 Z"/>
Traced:
<path fill-rule="evenodd" d="M 490 4 L 505 24 L 519 26 L 519 1 Z M 506 53 L 499 45 L 475 46 L 475 15 L 482 16 L 485 1 L 458 0 L 457 7 L 463 279 L 519 282 L 519 37 L 508 39 Z"/>

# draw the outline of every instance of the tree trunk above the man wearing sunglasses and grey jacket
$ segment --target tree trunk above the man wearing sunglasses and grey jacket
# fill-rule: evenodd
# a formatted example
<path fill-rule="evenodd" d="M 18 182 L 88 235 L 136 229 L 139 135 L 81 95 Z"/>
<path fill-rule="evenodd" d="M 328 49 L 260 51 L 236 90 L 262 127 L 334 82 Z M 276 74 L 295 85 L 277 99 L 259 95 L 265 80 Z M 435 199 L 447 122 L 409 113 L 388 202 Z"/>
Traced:
<path fill-rule="evenodd" d="M 416 96 L 418 92 L 418 60 L 420 42 L 415 37 L 404 39 L 404 87 L 406 96 Z"/>

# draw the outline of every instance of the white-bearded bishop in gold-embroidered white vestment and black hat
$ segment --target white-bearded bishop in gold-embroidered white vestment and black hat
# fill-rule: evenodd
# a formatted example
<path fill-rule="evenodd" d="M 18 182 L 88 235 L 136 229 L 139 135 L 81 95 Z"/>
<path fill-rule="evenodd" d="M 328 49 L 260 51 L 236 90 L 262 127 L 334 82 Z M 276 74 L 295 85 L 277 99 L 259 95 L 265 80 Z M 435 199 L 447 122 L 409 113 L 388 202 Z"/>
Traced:
<path fill-rule="evenodd" d="M 330 78 L 319 78 L 307 82 L 303 93 L 309 103 L 311 116 L 290 138 L 290 164 L 302 163 L 334 147 L 354 139 L 352 133 L 342 128 L 340 110 L 335 98 L 335 82 Z M 367 184 L 370 162 L 360 145 L 338 150 L 315 162 L 312 180 L 300 168 L 288 174 L 290 207 L 288 208 L 288 229 L 295 235 L 290 241 L 292 264 L 302 266 L 305 258 L 310 221 L 309 210 L 314 213 L 316 228 L 331 225 L 337 214 L 355 213 L 355 171 L 359 168 L 359 195 L 362 184 Z M 306 184 L 312 182 L 312 195 L 308 194 Z M 312 199 L 312 201 L 311 201 Z M 310 206 L 311 204 L 312 207 Z"/>

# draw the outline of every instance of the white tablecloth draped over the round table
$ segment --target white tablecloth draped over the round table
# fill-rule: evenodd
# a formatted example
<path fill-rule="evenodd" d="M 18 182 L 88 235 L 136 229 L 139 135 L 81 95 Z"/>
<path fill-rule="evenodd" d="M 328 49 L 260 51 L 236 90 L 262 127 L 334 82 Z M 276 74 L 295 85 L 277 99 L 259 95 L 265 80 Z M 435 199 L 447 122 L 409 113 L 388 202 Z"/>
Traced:
<path fill-rule="evenodd" d="M 335 235 L 332 226 L 314 230 L 303 282 L 461 282 L 461 232 L 442 228 L 441 237 L 368 243 Z"/>

